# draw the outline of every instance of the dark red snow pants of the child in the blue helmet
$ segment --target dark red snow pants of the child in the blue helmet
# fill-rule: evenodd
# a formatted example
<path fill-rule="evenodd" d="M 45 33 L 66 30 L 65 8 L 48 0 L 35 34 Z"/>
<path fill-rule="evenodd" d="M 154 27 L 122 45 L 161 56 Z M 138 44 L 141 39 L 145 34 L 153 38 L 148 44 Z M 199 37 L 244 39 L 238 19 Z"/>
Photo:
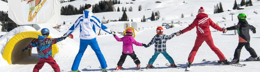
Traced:
<path fill-rule="evenodd" d="M 54 70 L 54 72 L 60 72 L 60 67 L 56 61 L 52 58 L 40 58 L 39 62 L 34 66 L 33 72 L 39 72 L 42 69 L 44 63 L 47 62 Z"/>

